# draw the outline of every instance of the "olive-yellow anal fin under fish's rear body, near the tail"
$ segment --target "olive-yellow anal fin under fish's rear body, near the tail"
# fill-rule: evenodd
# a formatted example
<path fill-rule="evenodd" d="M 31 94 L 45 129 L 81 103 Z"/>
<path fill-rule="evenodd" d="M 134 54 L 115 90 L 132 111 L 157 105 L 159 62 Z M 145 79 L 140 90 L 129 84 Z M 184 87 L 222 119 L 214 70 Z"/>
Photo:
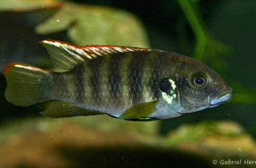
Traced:
<path fill-rule="evenodd" d="M 40 112 L 40 114 L 51 118 L 61 118 L 100 115 L 102 113 L 79 107 L 76 103 L 66 101 L 51 101 L 47 104 L 47 109 Z"/>

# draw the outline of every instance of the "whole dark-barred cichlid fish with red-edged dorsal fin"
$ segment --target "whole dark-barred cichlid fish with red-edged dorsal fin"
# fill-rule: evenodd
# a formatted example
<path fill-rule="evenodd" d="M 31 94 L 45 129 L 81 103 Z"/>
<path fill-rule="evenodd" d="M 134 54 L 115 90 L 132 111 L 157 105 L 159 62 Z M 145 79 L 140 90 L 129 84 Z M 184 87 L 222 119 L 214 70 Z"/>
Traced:
<path fill-rule="evenodd" d="M 135 121 L 170 119 L 215 107 L 232 89 L 205 64 L 157 49 L 113 45 L 75 46 L 40 41 L 57 69 L 24 63 L 3 71 L 5 97 L 19 106 L 52 100 L 40 114 L 72 117 L 107 114 Z"/>

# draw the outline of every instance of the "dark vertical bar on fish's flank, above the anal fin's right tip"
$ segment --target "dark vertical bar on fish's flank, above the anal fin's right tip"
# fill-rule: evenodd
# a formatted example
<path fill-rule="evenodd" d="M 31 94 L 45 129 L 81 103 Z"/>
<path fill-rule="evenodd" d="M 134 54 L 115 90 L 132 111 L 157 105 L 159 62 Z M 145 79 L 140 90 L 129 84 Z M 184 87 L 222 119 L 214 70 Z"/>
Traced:
<path fill-rule="evenodd" d="M 102 62 L 103 58 L 98 58 L 98 59 L 94 59 L 92 61 L 89 62 L 89 68 L 91 70 L 91 77 L 90 77 L 90 81 L 91 81 L 91 86 L 92 86 L 92 95 L 94 98 L 94 103 L 98 102 L 101 99 L 101 94 L 100 94 L 100 90 L 101 90 L 101 81 L 100 81 L 100 69 L 99 66 Z"/>

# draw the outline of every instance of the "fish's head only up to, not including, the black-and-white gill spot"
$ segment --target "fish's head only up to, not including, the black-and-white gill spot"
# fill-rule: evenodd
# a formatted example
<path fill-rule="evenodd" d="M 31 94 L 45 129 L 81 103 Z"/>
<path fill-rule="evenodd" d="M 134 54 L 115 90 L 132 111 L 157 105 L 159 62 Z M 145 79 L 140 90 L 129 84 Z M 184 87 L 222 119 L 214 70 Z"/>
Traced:
<path fill-rule="evenodd" d="M 227 82 L 205 64 L 188 59 L 180 76 L 180 109 L 182 114 L 193 113 L 227 102 L 232 89 Z"/>

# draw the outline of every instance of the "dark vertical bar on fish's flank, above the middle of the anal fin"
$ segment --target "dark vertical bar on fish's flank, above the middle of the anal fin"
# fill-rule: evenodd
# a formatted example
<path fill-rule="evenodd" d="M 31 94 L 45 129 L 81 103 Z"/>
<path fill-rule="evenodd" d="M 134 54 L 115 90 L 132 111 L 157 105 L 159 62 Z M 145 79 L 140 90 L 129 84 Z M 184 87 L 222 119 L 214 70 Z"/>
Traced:
<path fill-rule="evenodd" d="M 83 102 L 83 94 L 84 90 L 84 77 L 83 73 L 85 73 L 83 65 L 79 65 L 72 70 L 74 73 L 74 82 L 75 82 L 75 95 L 76 95 L 76 102 L 82 103 Z"/>

